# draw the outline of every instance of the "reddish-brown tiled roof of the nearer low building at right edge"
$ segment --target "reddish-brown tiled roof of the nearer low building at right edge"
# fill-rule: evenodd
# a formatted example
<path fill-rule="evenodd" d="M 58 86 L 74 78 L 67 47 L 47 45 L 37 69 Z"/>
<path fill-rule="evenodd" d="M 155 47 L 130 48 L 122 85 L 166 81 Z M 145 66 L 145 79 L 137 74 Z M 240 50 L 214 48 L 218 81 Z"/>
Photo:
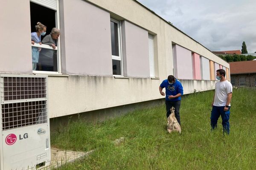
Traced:
<path fill-rule="evenodd" d="M 256 73 L 256 60 L 229 62 L 230 74 Z"/>

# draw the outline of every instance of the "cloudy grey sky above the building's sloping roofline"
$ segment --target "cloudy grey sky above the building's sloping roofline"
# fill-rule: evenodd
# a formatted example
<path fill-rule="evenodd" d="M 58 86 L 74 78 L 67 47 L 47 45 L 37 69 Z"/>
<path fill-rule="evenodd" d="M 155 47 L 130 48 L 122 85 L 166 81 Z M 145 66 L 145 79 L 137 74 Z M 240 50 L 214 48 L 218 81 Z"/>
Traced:
<path fill-rule="evenodd" d="M 211 51 L 256 51 L 256 0 L 138 0 Z"/>

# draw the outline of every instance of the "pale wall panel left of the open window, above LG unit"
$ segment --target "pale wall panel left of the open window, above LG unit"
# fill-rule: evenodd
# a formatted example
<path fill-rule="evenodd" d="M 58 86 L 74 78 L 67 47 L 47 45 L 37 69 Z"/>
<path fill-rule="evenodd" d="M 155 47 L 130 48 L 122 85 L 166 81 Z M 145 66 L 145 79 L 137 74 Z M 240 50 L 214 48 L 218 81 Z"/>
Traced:
<path fill-rule="evenodd" d="M 0 0 L 0 32 L 0 72 L 31 74 L 28 0 Z"/>

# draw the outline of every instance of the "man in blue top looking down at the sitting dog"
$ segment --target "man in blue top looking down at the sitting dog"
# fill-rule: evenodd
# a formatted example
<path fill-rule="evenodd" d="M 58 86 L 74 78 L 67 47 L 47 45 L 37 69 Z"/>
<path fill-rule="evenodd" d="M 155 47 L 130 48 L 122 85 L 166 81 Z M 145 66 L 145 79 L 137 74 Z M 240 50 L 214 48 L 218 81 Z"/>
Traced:
<path fill-rule="evenodd" d="M 164 94 L 163 88 L 166 88 L 166 94 Z M 174 76 L 169 75 L 159 86 L 159 91 L 162 96 L 166 95 L 166 117 L 169 117 L 170 109 L 173 106 L 175 108 L 175 117 L 180 124 L 180 96 L 183 95 L 181 83 Z"/>

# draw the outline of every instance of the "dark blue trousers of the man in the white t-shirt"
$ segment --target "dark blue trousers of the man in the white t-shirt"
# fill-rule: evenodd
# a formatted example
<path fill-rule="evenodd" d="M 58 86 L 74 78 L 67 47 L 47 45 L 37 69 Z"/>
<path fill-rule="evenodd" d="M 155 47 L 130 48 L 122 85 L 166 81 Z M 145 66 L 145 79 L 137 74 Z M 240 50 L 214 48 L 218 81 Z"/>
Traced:
<path fill-rule="evenodd" d="M 212 114 L 211 114 L 211 126 L 212 130 L 217 127 L 218 118 L 221 116 L 222 119 L 222 126 L 223 126 L 223 133 L 226 132 L 227 134 L 230 133 L 230 106 L 228 107 L 227 111 L 224 111 L 225 106 L 213 106 L 212 107 Z"/>

